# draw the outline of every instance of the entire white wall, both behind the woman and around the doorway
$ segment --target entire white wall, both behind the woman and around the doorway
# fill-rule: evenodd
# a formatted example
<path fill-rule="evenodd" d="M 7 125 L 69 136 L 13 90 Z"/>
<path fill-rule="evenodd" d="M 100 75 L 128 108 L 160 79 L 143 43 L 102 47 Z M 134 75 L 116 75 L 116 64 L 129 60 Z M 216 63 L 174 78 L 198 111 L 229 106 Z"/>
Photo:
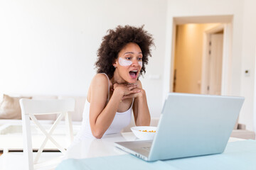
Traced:
<path fill-rule="evenodd" d="M 173 18 L 233 15 L 231 92 L 245 96 L 240 123 L 252 130 L 255 6 L 254 0 L 0 1 L 0 91 L 85 96 L 107 29 L 145 24 L 156 48 L 142 83 L 151 115 L 158 116 L 169 91 Z"/>

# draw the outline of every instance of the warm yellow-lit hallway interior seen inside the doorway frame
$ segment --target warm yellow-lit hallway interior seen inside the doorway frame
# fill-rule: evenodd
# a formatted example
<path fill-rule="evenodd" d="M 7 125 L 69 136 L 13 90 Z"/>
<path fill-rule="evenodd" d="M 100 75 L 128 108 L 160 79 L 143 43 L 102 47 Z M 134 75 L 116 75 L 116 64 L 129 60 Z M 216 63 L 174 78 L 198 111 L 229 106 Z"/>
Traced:
<path fill-rule="evenodd" d="M 220 94 L 223 30 L 213 30 L 215 23 L 184 24 L 176 26 L 176 45 L 174 56 L 174 86 L 173 91 L 179 93 Z M 207 33 L 207 40 L 203 40 Z M 208 46 L 206 46 L 206 45 Z M 203 47 L 208 50 L 207 60 L 203 60 Z M 206 62 L 206 63 L 203 63 Z M 202 77 L 202 66 L 206 65 L 206 77 Z M 201 86 L 202 79 L 206 81 Z"/>

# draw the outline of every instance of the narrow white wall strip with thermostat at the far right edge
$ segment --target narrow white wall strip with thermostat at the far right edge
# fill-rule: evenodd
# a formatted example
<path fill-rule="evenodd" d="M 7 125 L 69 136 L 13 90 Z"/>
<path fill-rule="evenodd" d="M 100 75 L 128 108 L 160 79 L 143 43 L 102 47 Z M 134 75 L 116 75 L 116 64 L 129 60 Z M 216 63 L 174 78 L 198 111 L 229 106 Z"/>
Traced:
<path fill-rule="evenodd" d="M 240 115 L 240 122 L 248 128 L 256 130 L 256 103 L 255 103 L 255 47 L 256 47 L 256 1 L 245 0 L 242 26 L 242 70 L 241 96 L 245 96 L 245 103 Z M 250 71 L 245 76 L 245 70 Z M 253 123 L 254 120 L 254 123 Z"/>

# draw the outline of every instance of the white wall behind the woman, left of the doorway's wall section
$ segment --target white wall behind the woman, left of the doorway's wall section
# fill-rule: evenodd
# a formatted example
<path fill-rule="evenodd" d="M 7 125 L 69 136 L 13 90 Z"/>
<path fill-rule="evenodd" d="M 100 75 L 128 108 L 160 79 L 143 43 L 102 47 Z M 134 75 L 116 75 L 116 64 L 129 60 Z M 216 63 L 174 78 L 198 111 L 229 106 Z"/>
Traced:
<path fill-rule="evenodd" d="M 142 85 L 159 116 L 164 72 L 165 0 L 0 1 L 0 91 L 86 96 L 102 36 L 118 25 L 142 26 L 156 48 Z"/>

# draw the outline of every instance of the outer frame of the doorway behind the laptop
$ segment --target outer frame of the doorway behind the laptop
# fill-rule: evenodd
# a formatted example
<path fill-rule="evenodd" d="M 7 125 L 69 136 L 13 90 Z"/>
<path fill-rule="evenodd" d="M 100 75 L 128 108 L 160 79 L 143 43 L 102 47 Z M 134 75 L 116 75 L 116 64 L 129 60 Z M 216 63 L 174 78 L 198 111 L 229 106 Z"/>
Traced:
<path fill-rule="evenodd" d="M 176 26 L 186 23 L 223 23 L 223 75 L 221 83 L 221 95 L 230 95 L 231 93 L 231 73 L 232 73 L 232 36 L 233 36 L 233 16 L 191 16 L 191 17 L 174 17 L 169 25 L 171 32 L 168 37 L 171 38 L 171 50 L 166 52 L 166 64 L 164 75 L 163 93 L 173 92 L 174 84 L 174 54 L 176 42 Z M 205 53 L 205 52 L 204 52 Z M 168 57 L 169 56 L 169 57 Z M 171 56 L 171 57 L 170 57 Z M 203 71 L 202 71 L 203 72 Z M 165 98 L 165 95 L 164 95 Z M 163 98 L 163 99 L 164 99 Z"/>

